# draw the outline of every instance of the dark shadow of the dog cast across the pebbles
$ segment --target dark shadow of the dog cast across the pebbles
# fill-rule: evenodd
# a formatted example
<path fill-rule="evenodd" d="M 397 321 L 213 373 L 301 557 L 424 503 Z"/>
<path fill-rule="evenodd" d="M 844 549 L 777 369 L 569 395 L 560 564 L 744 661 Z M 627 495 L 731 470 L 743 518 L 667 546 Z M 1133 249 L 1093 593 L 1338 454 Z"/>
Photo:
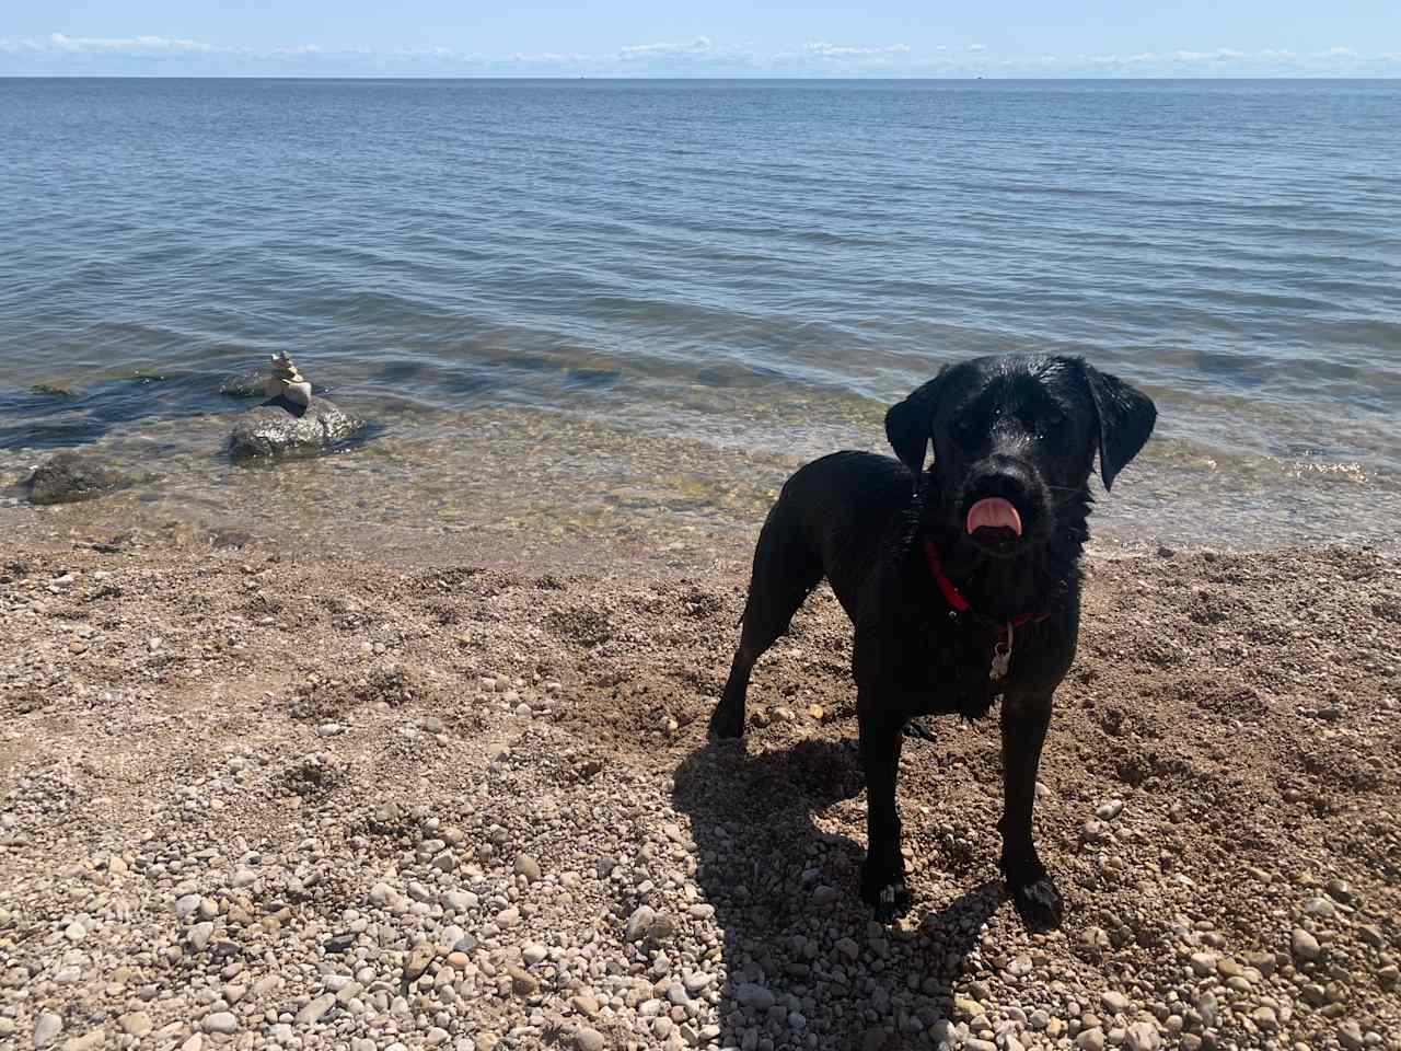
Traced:
<path fill-rule="evenodd" d="M 752 747 L 712 743 L 675 772 L 672 803 L 691 817 L 696 881 L 723 930 L 720 1045 L 927 1045 L 926 1030 L 947 1024 L 951 984 L 1002 901 L 1000 883 L 909 930 L 876 923 L 857 894 L 863 846 L 814 823 L 864 786 L 855 744 Z"/>

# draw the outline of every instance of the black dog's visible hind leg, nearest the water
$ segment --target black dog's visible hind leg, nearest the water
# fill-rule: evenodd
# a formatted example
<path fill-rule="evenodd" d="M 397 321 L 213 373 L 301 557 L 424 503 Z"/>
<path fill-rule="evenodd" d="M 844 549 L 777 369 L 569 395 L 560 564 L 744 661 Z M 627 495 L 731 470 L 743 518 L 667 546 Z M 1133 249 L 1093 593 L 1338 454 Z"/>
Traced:
<path fill-rule="evenodd" d="M 738 737 L 744 733 L 744 702 L 754 663 L 787 631 L 793 614 L 821 579 L 821 556 L 803 542 L 793 509 L 779 499 L 754 549 L 740 647 L 730 663 L 724 694 L 710 716 L 712 737 Z"/>

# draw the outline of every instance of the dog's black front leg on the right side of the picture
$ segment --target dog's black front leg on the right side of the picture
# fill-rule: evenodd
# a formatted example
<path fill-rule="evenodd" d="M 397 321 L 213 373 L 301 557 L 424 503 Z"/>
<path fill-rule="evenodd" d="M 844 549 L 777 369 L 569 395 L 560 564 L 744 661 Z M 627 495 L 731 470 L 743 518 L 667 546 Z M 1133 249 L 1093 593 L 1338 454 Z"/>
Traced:
<path fill-rule="evenodd" d="M 1002 873 L 1017 912 L 1034 929 L 1061 925 L 1062 902 L 1031 835 L 1041 747 L 1051 724 L 1051 694 L 1002 702 Z"/>

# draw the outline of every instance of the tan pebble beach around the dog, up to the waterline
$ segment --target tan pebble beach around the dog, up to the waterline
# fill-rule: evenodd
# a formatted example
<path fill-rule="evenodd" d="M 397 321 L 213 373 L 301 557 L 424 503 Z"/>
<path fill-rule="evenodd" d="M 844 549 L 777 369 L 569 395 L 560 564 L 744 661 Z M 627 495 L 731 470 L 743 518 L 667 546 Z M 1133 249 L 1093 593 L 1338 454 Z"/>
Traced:
<path fill-rule="evenodd" d="M 1030 935 L 995 719 L 908 743 L 915 907 L 857 900 L 825 589 L 706 741 L 743 535 L 7 516 L 0 1044 L 1401 1048 L 1394 556 L 1093 549 Z"/>

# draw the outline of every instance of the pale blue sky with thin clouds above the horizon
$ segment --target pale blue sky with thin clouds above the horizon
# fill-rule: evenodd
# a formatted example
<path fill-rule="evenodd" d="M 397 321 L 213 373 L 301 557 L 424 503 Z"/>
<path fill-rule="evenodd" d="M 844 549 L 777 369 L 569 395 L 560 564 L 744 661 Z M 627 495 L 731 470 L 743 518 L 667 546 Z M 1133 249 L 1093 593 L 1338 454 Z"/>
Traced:
<path fill-rule="evenodd" d="M 3 0 L 0 76 L 1401 76 L 1401 0 Z"/>

